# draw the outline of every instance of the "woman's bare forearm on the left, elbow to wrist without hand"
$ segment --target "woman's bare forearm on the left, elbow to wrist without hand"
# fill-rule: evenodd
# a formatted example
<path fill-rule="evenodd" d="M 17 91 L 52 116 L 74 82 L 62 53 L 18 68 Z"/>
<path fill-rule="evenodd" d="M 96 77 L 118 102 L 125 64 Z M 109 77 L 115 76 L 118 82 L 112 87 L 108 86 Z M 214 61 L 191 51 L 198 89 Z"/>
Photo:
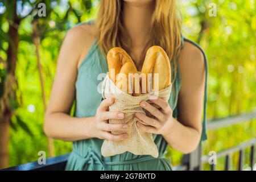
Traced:
<path fill-rule="evenodd" d="M 46 113 L 44 132 L 50 138 L 65 141 L 92 138 L 93 118 L 76 118 L 65 113 Z"/>

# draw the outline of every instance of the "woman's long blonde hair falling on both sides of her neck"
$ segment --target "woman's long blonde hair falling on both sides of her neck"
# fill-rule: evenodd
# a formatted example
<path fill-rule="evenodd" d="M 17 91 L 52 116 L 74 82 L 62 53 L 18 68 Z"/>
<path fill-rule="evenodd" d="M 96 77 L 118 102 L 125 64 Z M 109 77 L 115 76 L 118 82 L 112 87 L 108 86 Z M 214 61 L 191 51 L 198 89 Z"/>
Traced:
<path fill-rule="evenodd" d="M 181 49 L 181 20 L 175 0 L 155 0 L 155 11 L 152 15 L 151 40 L 144 48 L 160 46 L 166 51 L 169 59 L 174 61 L 176 75 L 176 58 Z M 96 20 L 98 44 L 106 55 L 113 47 L 122 47 L 133 58 L 130 50 L 129 35 L 122 24 L 122 0 L 101 0 Z M 126 42 L 123 41 L 126 38 Z"/>

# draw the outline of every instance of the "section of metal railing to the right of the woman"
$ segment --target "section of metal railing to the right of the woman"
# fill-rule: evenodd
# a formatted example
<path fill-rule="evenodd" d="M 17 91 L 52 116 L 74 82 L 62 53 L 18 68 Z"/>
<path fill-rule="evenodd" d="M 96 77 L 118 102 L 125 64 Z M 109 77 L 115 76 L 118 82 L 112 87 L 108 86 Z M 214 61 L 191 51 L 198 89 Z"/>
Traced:
<path fill-rule="evenodd" d="M 240 114 L 235 115 L 228 118 L 218 118 L 213 119 L 212 121 L 207 123 L 207 130 L 217 130 L 222 127 L 228 127 L 237 123 L 241 122 L 247 122 L 251 121 L 253 119 L 256 119 L 256 110 L 251 113 L 246 114 Z M 256 144 L 256 138 L 252 138 L 246 142 L 238 144 L 238 146 L 228 148 L 224 151 L 220 151 L 216 153 L 216 158 L 225 157 L 225 168 L 224 170 L 230 169 L 230 158 L 231 155 L 234 154 L 234 152 L 239 151 L 239 160 L 237 164 L 237 169 L 242 170 L 243 164 L 244 164 L 244 150 L 245 148 L 250 147 L 250 168 L 253 170 L 254 164 L 255 164 L 255 144 Z M 210 164 L 209 163 L 210 156 L 205 155 L 202 156 L 202 147 L 201 144 L 199 144 L 199 147 L 195 151 L 193 151 L 191 154 L 184 155 L 183 160 L 181 162 L 180 166 L 174 167 L 174 170 L 179 171 L 194 171 L 194 170 L 201 170 L 202 165 L 208 163 L 210 166 L 210 169 L 212 171 L 216 170 L 216 164 Z"/>

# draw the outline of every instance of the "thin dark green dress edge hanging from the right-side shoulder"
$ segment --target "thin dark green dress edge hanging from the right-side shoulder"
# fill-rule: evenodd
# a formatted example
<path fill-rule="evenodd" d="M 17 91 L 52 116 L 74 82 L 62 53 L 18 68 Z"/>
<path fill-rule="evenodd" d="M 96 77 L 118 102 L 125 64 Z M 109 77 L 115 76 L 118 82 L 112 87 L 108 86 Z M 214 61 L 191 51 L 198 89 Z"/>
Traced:
<path fill-rule="evenodd" d="M 202 134 L 201 134 L 201 141 L 203 141 L 203 140 L 207 140 L 206 122 L 207 122 L 208 61 L 207 61 L 207 56 L 205 55 L 205 52 L 199 46 L 199 44 L 193 42 L 192 40 L 186 39 L 184 37 L 183 37 L 183 39 L 184 39 L 184 41 L 187 41 L 187 42 L 195 45 L 197 48 L 199 48 L 204 56 L 204 65 L 205 65 L 204 112 L 203 112 L 203 130 L 202 130 Z"/>

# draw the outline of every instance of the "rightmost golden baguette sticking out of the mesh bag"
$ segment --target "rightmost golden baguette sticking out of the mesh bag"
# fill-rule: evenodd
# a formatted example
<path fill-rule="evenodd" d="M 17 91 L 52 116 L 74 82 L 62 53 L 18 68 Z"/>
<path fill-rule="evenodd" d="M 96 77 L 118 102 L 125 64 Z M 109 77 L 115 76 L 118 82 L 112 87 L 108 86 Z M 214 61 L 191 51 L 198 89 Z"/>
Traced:
<path fill-rule="evenodd" d="M 142 83 L 142 85 L 146 85 L 146 88 L 142 86 L 142 93 L 151 92 L 152 88 L 155 89 L 155 86 L 157 86 L 156 84 L 158 84 L 158 90 L 162 90 L 171 85 L 170 60 L 164 49 L 159 46 L 152 46 L 147 50 L 141 72 L 144 73 L 147 78 L 145 83 Z M 152 77 L 148 73 L 152 73 Z M 155 80 L 155 73 L 159 74 L 158 80 Z M 148 82 L 148 80 L 150 81 Z"/>

